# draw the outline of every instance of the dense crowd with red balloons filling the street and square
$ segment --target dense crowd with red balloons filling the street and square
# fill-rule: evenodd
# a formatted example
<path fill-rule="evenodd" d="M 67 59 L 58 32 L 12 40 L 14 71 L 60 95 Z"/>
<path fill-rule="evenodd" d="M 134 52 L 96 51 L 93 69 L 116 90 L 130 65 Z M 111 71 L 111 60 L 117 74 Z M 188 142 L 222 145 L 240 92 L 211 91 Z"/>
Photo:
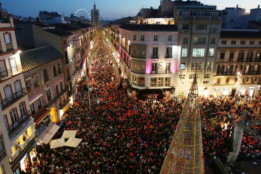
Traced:
<path fill-rule="evenodd" d="M 110 56 L 104 47 L 99 47 L 96 55 L 101 56 L 93 63 L 89 78 L 78 83 L 76 99 L 57 123 L 61 128 L 53 137 L 60 138 L 64 130 L 77 130 L 75 137 L 82 139 L 81 143 L 76 148 L 38 146 L 33 169 L 28 166 L 26 172 L 159 173 L 186 99 L 141 101 L 128 97 L 118 86 L 121 77 L 111 78 L 115 74 L 108 68 L 112 63 L 106 63 Z M 97 66 L 100 59 L 105 59 L 104 64 Z M 90 94 L 84 90 L 88 81 L 93 88 Z M 210 165 L 215 158 L 226 161 L 231 151 L 231 123 L 243 111 L 249 113 L 248 120 L 260 118 L 260 112 L 247 104 L 237 105 L 228 96 L 200 97 L 200 104 L 205 161 Z M 204 111 L 210 109 L 217 111 L 216 124 L 204 120 Z M 239 159 L 260 158 L 259 149 L 258 142 L 244 134 Z"/>

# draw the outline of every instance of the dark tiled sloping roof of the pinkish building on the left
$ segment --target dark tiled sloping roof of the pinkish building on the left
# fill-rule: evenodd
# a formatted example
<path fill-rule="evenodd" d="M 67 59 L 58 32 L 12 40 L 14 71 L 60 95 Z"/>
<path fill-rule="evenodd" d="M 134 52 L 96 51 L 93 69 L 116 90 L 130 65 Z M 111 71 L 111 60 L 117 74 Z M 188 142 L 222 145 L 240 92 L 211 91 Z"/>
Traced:
<path fill-rule="evenodd" d="M 20 53 L 20 60 L 23 71 L 29 71 L 48 62 L 63 57 L 62 53 L 53 46 L 47 45 Z"/>

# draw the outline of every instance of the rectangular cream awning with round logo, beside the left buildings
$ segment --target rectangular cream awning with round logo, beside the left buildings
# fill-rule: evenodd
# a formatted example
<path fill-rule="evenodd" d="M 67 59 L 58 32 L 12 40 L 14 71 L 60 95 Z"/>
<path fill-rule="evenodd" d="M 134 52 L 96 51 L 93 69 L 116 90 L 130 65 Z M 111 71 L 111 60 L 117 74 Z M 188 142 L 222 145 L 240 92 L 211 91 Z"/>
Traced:
<path fill-rule="evenodd" d="M 39 141 L 48 144 L 59 128 L 60 126 L 57 126 L 54 123 L 49 123 L 48 127 L 46 127 L 43 133 L 39 136 Z"/>

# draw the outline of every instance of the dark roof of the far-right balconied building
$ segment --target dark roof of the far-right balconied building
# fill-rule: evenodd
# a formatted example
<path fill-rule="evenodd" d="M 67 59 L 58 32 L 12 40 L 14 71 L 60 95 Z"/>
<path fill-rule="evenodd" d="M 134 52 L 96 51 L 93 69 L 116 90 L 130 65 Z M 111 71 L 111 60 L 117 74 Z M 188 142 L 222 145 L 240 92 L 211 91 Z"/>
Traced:
<path fill-rule="evenodd" d="M 222 29 L 220 38 L 261 38 L 261 32 L 255 29 Z"/>

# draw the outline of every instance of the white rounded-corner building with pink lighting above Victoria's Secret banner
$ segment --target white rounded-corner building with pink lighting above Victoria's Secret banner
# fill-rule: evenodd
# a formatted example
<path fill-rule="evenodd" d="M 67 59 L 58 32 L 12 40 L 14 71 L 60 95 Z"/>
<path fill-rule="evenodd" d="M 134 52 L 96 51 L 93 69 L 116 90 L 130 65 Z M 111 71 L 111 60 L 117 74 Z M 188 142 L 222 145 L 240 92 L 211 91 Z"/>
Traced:
<path fill-rule="evenodd" d="M 106 29 L 108 41 L 120 54 L 117 61 L 131 87 L 152 93 L 155 89 L 175 91 L 173 73 L 179 53 L 176 26 L 123 24 L 118 29 L 112 27 Z"/>

